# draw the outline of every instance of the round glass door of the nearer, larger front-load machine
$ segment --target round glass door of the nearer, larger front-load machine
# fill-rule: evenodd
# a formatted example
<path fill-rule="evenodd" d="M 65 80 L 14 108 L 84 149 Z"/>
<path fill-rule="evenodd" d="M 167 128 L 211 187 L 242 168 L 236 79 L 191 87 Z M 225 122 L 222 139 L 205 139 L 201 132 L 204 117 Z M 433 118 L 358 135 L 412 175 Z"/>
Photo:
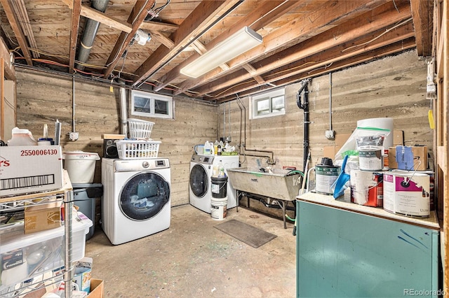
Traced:
<path fill-rule="evenodd" d="M 147 220 L 170 200 L 170 185 L 158 173 L 142 172 L 131 177 L 121 190 L 121 212 L 131 220 Z"/>

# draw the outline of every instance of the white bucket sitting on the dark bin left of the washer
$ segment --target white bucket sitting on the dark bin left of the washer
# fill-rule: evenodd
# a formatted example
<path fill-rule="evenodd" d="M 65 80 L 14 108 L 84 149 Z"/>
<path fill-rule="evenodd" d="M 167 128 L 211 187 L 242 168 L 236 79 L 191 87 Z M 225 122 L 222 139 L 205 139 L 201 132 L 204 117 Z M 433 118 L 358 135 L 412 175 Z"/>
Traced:
<path fill-rule="evenodd" d="M 70 151 L 62 155 L 64 169 L 69 174 L 70 182 L 93 183 L 95 173 L 95 161 L 100 160 L 98 153 Z"/>

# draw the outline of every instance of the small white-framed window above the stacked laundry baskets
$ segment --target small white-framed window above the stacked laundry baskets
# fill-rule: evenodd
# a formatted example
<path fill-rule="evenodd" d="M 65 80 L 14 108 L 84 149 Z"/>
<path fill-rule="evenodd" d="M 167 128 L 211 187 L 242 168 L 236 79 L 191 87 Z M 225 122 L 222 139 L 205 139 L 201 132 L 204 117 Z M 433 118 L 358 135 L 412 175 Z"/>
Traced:
<path fill-rule="evenodd" d="M 173 97 L 131 90 L 131 115 L 173 118 Z"/>

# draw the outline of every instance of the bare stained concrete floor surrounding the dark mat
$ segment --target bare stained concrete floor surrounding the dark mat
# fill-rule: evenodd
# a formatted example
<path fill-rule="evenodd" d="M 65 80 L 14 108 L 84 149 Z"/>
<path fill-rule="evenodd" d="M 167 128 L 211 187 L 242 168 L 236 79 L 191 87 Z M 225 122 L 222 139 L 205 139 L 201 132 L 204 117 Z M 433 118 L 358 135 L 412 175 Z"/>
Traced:
<path fill-rule="evenodd" d="M 214 225 L 236 219 L 276 234 L 253 248 Z M 100 227 L 86 243 L 105 297 L 295 297 L 293 224 L 239 207 L 213 220 L 191 205 L 171 209 L 170 228 L 113 246 Z"/>

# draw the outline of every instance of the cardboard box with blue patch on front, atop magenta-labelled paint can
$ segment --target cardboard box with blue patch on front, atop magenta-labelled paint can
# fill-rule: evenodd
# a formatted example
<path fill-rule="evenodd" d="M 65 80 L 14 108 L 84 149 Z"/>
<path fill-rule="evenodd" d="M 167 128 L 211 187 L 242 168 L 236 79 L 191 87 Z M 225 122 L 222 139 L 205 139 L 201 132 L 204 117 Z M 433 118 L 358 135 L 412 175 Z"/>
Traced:
<path fill-rule="evenodd" d="M 390 169 L 425 171 L 427 169 L 427 146 L 396 146 L 388 152 Z"/>

